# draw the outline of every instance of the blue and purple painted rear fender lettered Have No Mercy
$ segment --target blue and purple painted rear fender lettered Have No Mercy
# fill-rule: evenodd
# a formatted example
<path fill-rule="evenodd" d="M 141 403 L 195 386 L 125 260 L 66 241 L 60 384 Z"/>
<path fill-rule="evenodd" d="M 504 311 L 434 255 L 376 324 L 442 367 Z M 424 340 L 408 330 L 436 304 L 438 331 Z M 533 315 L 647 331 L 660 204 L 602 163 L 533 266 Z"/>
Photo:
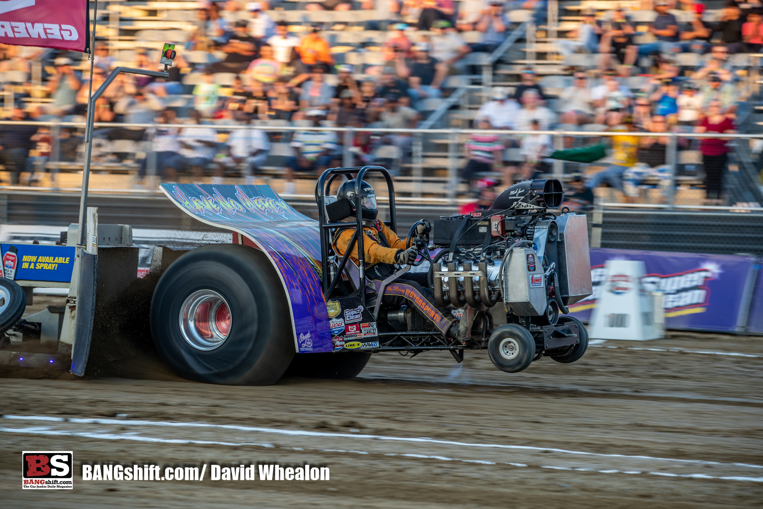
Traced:
<path fill-rule="evenodd" d="M 284 285 L 298 352 L 333 350 L 320 285 L 317 221 L 300 214 L 268 185 L 162 184 L 161 188 L 198 221 L 242 234 L 266 253 Z"/>

